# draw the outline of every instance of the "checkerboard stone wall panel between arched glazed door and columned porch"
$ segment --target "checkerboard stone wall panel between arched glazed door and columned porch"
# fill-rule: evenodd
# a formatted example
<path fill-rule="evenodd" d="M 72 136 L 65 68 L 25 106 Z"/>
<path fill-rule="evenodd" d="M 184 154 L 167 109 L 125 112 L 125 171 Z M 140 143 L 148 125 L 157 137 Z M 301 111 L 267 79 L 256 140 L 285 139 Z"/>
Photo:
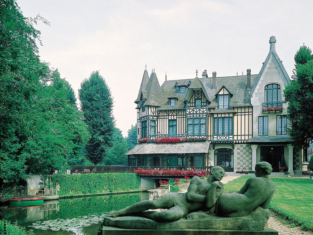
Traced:
<path fill-rule="evenodd" d="M 252 149 L 250 144 L 235 144 L 237 170 L 252 170 Z"/>

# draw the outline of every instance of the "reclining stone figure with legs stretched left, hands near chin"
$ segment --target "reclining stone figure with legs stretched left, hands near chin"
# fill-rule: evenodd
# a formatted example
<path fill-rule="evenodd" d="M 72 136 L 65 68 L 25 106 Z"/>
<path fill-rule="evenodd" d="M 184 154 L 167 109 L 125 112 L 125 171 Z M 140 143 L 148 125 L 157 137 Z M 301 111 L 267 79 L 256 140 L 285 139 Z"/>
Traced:
<path fill-rule="evenodd" d="M 215 211 L 218 197 L 223 193 L 223 184 L 219 182 L 225 171 L 215 166 L 211 169 L 208 179 L 202 180 L 198 176 L 191 179 L 187 193 L 167 193 L 153 201 L 141 201 L 119 211 L 111 211 L 108 217 L 136 215 L 159 222 L 176 221 L 193 211 L 203 208 Z M 168 209 L 163 212 L 146 211 L 148 209 Z"/>

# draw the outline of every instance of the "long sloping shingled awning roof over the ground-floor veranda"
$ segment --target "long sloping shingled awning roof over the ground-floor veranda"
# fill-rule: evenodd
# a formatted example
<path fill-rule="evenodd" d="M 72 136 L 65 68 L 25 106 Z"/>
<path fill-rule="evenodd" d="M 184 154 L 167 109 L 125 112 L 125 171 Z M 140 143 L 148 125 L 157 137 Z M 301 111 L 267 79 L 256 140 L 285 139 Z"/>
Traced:
<path fill-rule="evenodd" d="M 176 144 L 144 143 L 137 144 L 125 155 L 134 154 L 191 154 L 208 153 L 210 142 L 208 141 L 187 141 Z"/>

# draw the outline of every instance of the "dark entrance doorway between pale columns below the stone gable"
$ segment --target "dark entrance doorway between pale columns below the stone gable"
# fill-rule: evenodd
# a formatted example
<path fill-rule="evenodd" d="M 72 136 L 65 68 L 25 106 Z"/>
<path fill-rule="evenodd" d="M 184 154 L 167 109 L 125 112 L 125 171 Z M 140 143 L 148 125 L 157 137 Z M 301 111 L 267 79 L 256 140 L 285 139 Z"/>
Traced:
<path fill-rule="evenodd" d="M 279 172 L 281 159 L 284 157 L 284 146 L 261 146 L 260 161 L 272 165 L 273 172 Z"/>

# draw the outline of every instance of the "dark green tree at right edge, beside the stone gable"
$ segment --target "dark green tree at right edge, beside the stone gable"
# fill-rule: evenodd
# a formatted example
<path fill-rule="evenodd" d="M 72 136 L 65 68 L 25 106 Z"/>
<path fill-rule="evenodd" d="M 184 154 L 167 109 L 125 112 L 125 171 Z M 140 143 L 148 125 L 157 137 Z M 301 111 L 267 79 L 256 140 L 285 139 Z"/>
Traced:
<path fill-rule="evenodd" d="M 304 44 L 295 54 L 292 78 L 284 90 L 291 124 L 288 133 L 295 146 L 307 148 L 313 140 L 313 55 Z"/>

